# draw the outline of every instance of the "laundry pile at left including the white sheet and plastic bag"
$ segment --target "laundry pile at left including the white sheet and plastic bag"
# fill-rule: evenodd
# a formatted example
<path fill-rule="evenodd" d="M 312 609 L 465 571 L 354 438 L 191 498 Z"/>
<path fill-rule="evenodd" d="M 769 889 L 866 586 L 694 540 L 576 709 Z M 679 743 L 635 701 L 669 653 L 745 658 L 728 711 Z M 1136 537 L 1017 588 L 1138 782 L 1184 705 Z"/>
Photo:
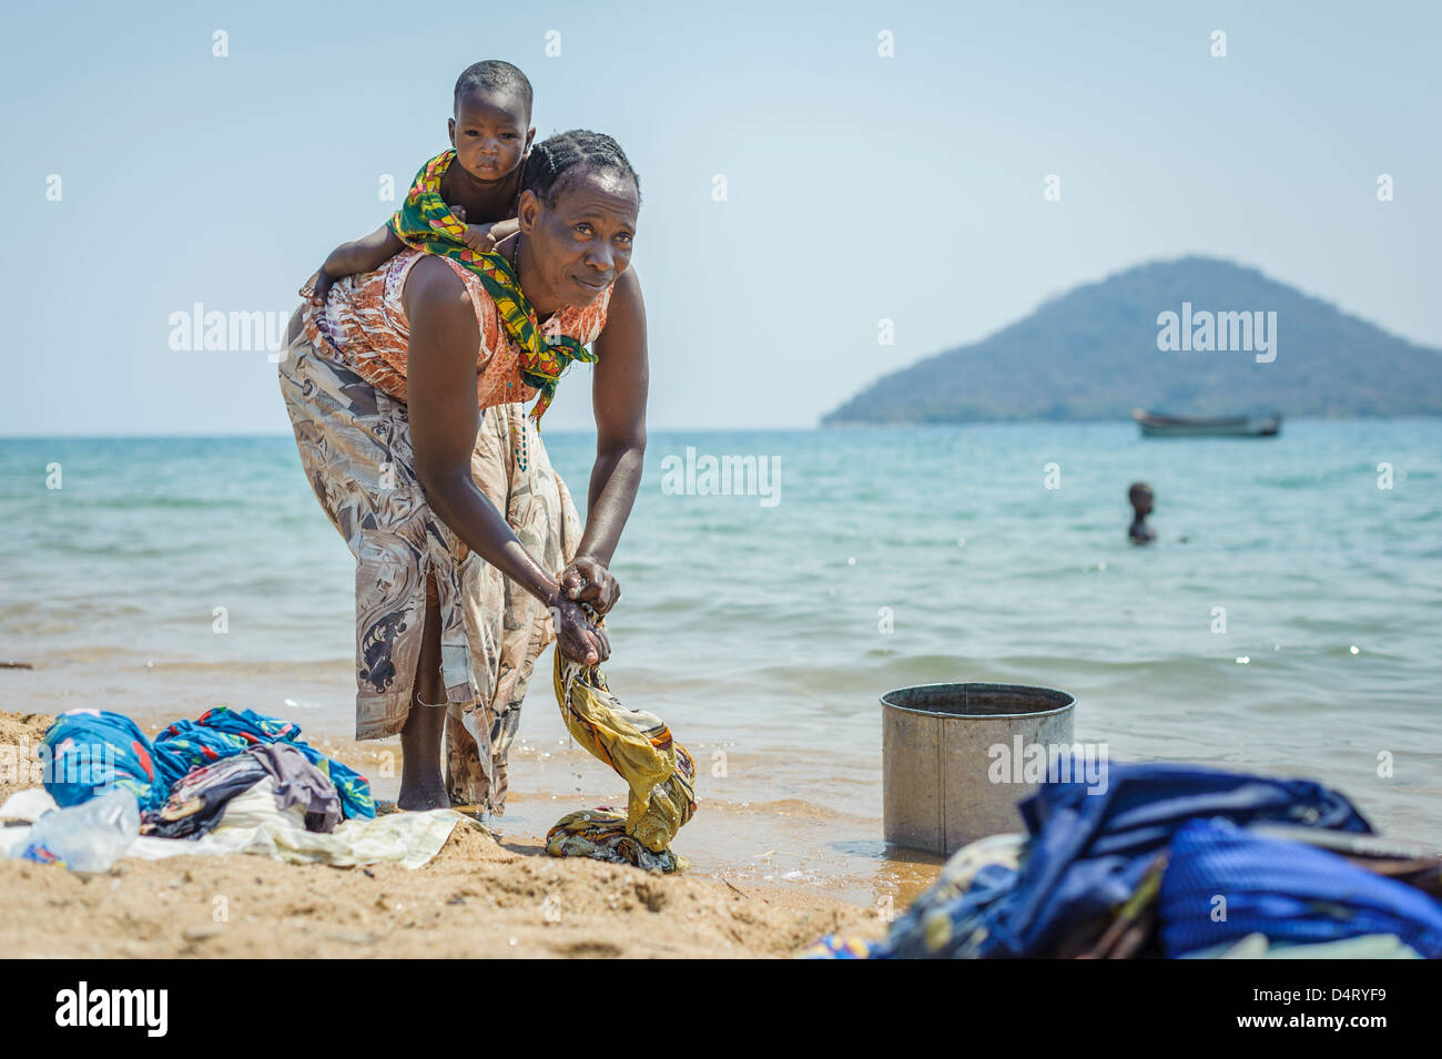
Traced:
<path fill-rule="evenodd" d="M 376 816 L 371 785 L 294 723 L 218 706 L 154 742 L 120 713 L 69 710 L 40 746 L 43 788 L 0 805 L 0 856 L 102 872 L 117 857 L 249 853 L 352 867 L 430 863 L 451 808 Z M 58 814 L 58 816 L 56 816 Z"/>

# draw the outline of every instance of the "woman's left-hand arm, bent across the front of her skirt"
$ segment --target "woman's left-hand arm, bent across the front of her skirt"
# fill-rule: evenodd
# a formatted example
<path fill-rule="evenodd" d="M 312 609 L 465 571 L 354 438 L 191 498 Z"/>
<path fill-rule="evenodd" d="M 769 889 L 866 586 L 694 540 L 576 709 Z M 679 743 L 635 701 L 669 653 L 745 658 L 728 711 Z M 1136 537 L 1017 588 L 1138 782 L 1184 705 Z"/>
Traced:
<path fill-rule="evenodd" d="M 444 261 L 425 258 L 411 271 L 401 303 L 411 321 L 407 406 L 415 475 L 425 501 L 480 558 L 557 611 L 562 654 L 585 664 L 604 661 L 604 634 L 562 596 L 558 581 L 516 539 L 472 477 L 470 458 L 480 426 L 480 331 L 464 284 Z"/>

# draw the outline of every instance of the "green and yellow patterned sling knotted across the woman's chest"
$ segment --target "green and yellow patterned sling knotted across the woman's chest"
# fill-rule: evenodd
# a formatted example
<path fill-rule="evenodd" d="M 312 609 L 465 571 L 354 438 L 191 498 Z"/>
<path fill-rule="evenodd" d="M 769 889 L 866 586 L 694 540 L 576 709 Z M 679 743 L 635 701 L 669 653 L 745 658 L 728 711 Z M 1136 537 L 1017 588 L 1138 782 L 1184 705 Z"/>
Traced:
<path fill-rule="evenodd" d="M 427 161 L 415 174 L 415 182 L 401 209 L 391 218 L 391 231 L 408 246 L 457 261 L 474 272 L 486 294 L 496 303 L 506 334 L 521 350 L 521 379 L 541 390 L 531 409 L 531 418 L 541 428 L 541 416 L 555 398 L 555 385 L 572 360 L 596 362 L 596 353 L 570 336 L 541 334 L 536 311 L 521 291 L 521 277 L 500 254 L 477 254 L 466 239 L 466 225 L 456 219 L 441 197 L 441 177 L 454 150 L 446 150 Z"/>

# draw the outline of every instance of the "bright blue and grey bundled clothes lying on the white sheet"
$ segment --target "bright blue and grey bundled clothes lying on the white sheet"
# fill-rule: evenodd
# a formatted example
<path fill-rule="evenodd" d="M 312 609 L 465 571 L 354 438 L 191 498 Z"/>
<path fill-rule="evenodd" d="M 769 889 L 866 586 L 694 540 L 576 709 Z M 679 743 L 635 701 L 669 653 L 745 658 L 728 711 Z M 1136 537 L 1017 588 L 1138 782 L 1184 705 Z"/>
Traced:
<path fill-rule="evenodd" d="M 365 777 L 310 746 L 298 725 L 254 710 L 216 706 L 151 742 L 121 713 L 78 709 L 55 719 L 43 745 L 45 790 L 58 805 L 120 787 L 136 795 L 141 834 L 198 839 L 215 830 L 236 795 L 262 781 L 278 810 L 300 807 L 309 831 L 375 817 Z"/>

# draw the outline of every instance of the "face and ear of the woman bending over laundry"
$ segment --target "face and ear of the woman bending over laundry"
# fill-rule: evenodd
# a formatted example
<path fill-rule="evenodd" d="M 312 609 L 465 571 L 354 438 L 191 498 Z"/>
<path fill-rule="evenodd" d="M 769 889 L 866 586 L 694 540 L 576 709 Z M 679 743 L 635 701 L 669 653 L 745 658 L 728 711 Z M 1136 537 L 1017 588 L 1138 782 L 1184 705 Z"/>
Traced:
<path fill-rule="evenodd" d="M 562 176 L 549 206 L 521 196 L 522 254 L 534 269 L 526 297 L 552 311 L 596 301 L 630 265 L 639 210 L 636 182 L 610 170 Z"/>

